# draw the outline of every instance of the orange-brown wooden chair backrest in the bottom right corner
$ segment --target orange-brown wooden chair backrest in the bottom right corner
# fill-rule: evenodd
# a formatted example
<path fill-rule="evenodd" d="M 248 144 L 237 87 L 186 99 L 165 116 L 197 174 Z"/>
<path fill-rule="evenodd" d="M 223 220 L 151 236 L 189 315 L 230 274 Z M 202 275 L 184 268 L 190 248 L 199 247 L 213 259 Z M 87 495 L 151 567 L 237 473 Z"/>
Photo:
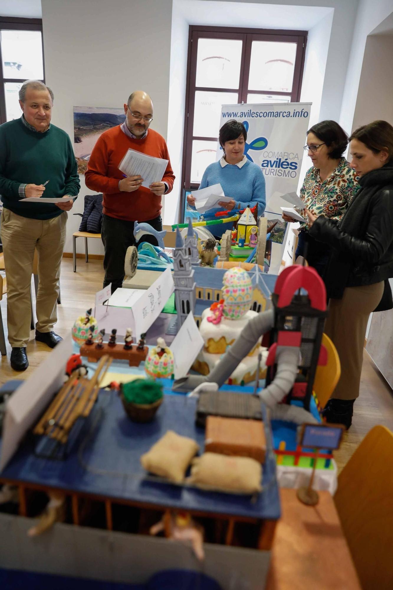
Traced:
<path fill-rule="evenodd" d="M 338 478 L 335 504 L 363 590 L 393 588 L 393 433 L 375 426 Z"/>

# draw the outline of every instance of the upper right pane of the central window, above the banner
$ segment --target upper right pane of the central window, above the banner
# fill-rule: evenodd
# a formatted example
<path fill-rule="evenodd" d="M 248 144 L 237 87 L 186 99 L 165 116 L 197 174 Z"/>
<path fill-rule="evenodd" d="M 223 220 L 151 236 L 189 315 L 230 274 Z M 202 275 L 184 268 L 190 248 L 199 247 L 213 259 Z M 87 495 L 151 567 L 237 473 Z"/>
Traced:
<path fill-rule="evenodd" d="M 295 57 L 296 43 L 253 41 L 248 88 L 291 92 Z"/>

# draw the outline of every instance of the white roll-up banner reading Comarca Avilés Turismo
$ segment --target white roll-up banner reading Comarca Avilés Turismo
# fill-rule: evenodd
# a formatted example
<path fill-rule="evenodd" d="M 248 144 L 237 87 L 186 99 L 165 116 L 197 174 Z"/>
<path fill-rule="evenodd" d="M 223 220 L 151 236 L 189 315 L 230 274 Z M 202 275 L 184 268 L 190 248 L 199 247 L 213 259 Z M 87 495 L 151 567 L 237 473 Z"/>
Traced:
<path fill-rule="evenodd" d="M 247 130 L 244 154 L 250 162 L 261 167 L 265 176 L 264 216 L 271 220 L 270 226 L 277 221 L 271 232 L 271 274 L 278 273 L 284 257 L 291 224 L 281 217 L 280 207 L 290 207 L 281 195 L 297 190 L 311 104 L 223 104 L 221 107 L 220 128 L 231 119 L 244 124 Z M 219 144 L 217 160 L 221 156 Z"/>

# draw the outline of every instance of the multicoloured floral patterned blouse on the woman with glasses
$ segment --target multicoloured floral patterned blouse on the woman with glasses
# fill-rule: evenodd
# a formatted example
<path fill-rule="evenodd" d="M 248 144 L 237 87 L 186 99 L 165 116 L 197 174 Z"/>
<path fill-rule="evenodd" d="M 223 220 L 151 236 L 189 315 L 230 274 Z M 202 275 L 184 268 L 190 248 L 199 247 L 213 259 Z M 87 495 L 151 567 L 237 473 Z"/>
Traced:
<path fill-rule="evenodd" d="M 313 166 L 304 178 L 300 198 L 314 215 L 339 220 L 360 188 L 358 180 L 359 176 L 350 168 L 345 158 L 340 159 L 335 171 L 323 182 L 319 176 L 319 168 Z M 299 213 L 306 218 L 303 211 L 299 210 Z M 308 231 L 309 228 L 304 223 L 300 224 L 300 230 Z"/>

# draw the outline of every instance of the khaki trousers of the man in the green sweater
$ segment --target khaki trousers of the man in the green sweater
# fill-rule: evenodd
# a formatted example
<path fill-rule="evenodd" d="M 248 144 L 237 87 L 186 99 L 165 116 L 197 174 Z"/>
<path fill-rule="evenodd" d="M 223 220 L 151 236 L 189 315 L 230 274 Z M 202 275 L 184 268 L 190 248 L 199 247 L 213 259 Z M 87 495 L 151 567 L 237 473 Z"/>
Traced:
<path fill-rule="evenodd" d="M 8 341 L 12 348 L 27 346 L 30 339 L 30 292 L 35 248 L 38 252 L 35 327 L 40 332 L 51 332 L 57 322 L 58 281 L 67 218 L 66 211 L 52 219 L 30 219 L 3 208 L 1 238 L 7 278 Z"/>

